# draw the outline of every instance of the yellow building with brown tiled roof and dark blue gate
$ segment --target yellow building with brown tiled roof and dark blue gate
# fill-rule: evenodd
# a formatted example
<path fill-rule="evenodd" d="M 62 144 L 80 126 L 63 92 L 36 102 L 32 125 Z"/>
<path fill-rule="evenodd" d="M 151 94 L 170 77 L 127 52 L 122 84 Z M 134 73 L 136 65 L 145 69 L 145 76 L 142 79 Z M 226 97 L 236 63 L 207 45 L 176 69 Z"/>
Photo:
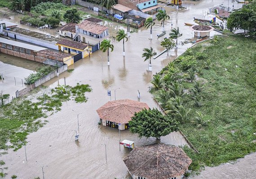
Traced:
<path fill-rule="evenodd" d="M 74 55 L 72 60 L 63 61 L 68 66 L 92 53 L 91 48 L 86 43 L 79 43 L 64 38 L 59 40 L 56 45 L 59 50 Z"/>

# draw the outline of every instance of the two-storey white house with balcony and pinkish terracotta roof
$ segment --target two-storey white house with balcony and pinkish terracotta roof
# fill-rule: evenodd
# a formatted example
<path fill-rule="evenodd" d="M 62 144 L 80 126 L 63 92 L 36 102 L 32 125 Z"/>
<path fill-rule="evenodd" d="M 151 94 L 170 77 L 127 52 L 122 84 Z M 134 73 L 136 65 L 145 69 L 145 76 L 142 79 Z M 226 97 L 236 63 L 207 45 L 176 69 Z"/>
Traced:
<path fill-rule="evenodd" d="M 75 26 L 76 41 L 95 46 L 109 38 L 108 27 L 84 20 Z"/>

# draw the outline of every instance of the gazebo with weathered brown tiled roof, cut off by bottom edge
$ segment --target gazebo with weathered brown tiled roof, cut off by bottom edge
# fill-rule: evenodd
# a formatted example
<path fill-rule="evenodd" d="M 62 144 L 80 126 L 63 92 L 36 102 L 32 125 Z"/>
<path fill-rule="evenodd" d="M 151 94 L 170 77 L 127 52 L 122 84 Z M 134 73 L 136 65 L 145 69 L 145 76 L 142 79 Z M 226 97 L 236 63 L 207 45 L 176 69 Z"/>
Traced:
<path fill-rule="evenodd" d="M 162 143 L 137 147 L 124 158 L 133 179 L 181 179 L 191 162 L 181 148 Z"/>

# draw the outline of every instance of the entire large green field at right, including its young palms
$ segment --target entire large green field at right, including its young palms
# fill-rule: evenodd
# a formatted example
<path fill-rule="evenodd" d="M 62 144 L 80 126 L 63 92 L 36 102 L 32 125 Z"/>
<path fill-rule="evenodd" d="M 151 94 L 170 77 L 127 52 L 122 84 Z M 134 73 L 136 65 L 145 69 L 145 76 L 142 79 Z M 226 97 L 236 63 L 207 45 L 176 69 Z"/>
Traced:
<path fill-rule="evenodd" d="M 255 38 L 214 38 L 154 75 L 150 92 L 199 151 L 184 148 L 191 170 L 256 151 L 255 49 Z"/>

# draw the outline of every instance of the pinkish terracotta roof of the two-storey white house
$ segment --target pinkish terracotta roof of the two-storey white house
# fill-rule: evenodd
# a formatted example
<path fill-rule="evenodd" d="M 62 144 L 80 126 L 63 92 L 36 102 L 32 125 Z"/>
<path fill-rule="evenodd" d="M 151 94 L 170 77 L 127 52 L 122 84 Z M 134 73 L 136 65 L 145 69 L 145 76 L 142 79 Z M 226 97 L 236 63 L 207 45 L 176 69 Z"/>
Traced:
<path fill-rule="evenodd" d="M 92 32 L 94 34 L 102 34 L 105 30 L 108 29 L 106 26 L 102 26 L 102 25 L 99 25 L 97 23 L 87 21 L 87 20 L 84 20 L 81 23 L 79 23 L 78 27 L 80 29 Z"/>

